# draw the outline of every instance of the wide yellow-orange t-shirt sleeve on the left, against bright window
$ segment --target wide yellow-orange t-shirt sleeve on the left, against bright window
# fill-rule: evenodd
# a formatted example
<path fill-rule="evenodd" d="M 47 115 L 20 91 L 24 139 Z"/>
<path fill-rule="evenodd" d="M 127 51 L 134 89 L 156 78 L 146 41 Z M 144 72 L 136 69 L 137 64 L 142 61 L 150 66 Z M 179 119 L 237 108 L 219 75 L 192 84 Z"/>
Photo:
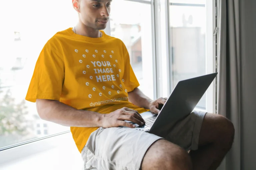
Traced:
<path fill-rule="evenodd" d="M 26 100 L 60 100 L 64 81 L 64 60 L 54 43 L 49 41 L 42 49 L 28 88 Z"/>

